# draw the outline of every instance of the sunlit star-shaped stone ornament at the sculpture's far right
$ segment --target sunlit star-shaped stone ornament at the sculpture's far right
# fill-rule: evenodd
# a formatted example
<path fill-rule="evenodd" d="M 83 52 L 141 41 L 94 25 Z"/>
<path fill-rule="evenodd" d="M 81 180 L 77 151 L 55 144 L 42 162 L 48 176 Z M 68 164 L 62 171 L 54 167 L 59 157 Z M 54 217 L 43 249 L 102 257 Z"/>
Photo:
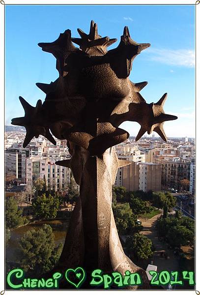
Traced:
<path fill-rule="evenodd" d="M 148 113 L 143 114 L 141 119 L 138 120 L 141 125 L 141 129 L 136 136 L 136 141 L 138 141 L 146 131 L 148 134 L 151 134 L 153 131 L 155 131 L 164 141 L 167 141 L 163 124 L 165 121 L 176 120 L 177 117 L 165 114 L 163 106 L 166 99 L 167 93 L 165 93 L 157 103 L 151 103 L 148 105 Z"/>

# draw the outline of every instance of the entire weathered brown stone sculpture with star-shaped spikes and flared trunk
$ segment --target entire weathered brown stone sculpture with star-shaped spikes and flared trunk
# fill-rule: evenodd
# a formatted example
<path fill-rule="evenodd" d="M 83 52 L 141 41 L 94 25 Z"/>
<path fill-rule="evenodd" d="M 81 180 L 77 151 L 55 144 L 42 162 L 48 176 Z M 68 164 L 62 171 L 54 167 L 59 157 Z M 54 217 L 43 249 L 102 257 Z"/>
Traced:
<path fill-rule="evenodd" d="M 88 273 L 94 268 L 122 274 L 126 270 L 140 272 L 142 288 L 148 289 L 145 271 L 126 257 L 117 234 L 112 185 L 118 167 L 130 162 L 118 160 L 112 147 L 129 137 L 127 131 L 118 127 L 124 121 L 141 125 L 136 140 L 146 131 L 148 134 L 155 131 L 167 141 L 164 121 L 177 117 L 163 110 L 167 93 L 157 103 L 148 104 L 140 94 L 147 82 L 133 83 L 128 78 L 133 60 L 149 43 L 137 43 L 125 27 L 119 45 L 107 51 L 116 39 L 102 38 L 93 21 L 88 34 L 81 29 L 78 32 L 81 38 L 71 38 L 67 29 L 56 41 L 38 44 L 57 59 L 59 77 L 50 84 L 36 84 L 46 93 L 43 104 L 38 100 L 36 107 L 32 107 L 20 97 L 25 117 L 12 119 L 12 124 L 26 127 L 24 147 L 39 134 L 56 144 L 53 134 L 57 139 L 67 140 L 72 156 L 57 162 L 70 167 L 80 184 L 80 199 L 57 269 L 83 266 Z"/>

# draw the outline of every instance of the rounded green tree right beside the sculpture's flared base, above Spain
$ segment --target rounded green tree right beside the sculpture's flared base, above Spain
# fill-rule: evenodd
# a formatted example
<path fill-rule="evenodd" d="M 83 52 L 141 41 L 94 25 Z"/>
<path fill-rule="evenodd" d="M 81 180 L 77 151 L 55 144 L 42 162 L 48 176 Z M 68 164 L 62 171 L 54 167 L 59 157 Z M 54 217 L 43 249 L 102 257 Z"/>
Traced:
<path fill-rule="evenodd" d="M 139 233 L 127 236 L 125 247 L 129 255 L 137 260 L 148 259 L 153 255 L 151 240 Z"/>

